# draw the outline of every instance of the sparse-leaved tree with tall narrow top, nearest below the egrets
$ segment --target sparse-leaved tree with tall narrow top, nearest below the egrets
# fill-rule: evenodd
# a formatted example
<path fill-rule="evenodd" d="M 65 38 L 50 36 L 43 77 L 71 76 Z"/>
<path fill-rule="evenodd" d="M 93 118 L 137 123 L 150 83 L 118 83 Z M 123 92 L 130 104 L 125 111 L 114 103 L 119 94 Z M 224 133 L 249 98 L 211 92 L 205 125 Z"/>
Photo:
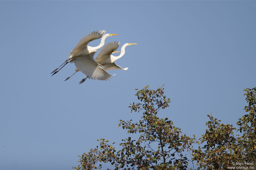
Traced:
<path fill-rule="evenodd" d="M 157 113 L 169 106 L 163 86 L 152 90 L 145 86 L 135 94 L 142 103 L 133 103 L 131 112 L 142 112 L 138 123 L 120 120 L 118 126 L 127 129 L 127 133 L 138 133 L 137 140 L 128 137 L 120 143 L 121 150 L 116 151 L 108 140 L 99 139 L 100 145 L 82 154 L 80 166 L 75 169 L 101 169 L 100 163 L 110 162 L 114 169 L 186 169 L 191 161 L 191 146 L 195 137 L 181 135 L 181 129 L 175 127 L 168 118 L 161 119 Z M 187 158 L 189 155 L 189 158 Z M 190 159 L 190 160 L 189 160 Z M 73 167 L 74 168 L 74 167 Z"/>

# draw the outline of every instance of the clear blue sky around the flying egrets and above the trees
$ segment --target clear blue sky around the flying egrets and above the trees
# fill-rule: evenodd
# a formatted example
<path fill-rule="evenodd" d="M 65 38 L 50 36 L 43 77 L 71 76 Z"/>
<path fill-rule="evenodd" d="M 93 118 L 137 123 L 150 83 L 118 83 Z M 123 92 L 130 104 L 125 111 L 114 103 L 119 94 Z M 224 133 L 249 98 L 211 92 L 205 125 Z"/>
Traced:
<path fill-rule="evenodd" d="M 121 142 L 118 120 L 135 88 L 165 84 L 170 107 L 159 112 L 184 134 L 205 132 L 207 114 L 236 125 L 244 88 L 256 86 L 256 1 L 0 1 L 0 168 L 62 169 L 97 139 Z M 86 80 L 74 64 L 50 72 L 85 35 L 138 43 L 116 61 L 110 81 Z M 100 40 L 91 42 L 97 46 Z M 120 48 L 119 48 L 120 50 Z M 96 53 L 97 55 L 98 53 Z"/>

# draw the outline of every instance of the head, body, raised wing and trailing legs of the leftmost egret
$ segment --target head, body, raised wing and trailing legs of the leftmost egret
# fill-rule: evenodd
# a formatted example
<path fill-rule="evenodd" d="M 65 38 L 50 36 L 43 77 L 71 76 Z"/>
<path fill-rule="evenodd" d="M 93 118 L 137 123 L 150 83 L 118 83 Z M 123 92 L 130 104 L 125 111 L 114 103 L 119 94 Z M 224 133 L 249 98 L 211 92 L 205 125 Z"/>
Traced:
<path fill-rule="evenodd" d="M 68 59 L 63 62 L 57 69 L 55 69 L 54 71 L 52 71 L 51 73 L 53 73 L 52 75 L 56 74 L 58 71 L 60 71 L 60 69 L 62 69 L 67 63 L 73 63 L 74 60 L 85 56 L 85 55 L 89 55 L 90 53 L 92 53 L 93 51 L 101 48 L 104 43 L 105 43 L 105 39 L 109 36 L 113 36 L 113 35 L 118 35 L 118 34 L 105 34 L 105 30 L 102 31 L 93 31 L 92 33 L 84 36 L 79 42 L 78 44 L 74 47 L 74 49 L 72 51 L 70 51 L 69 53 L 69 57 Z M 104 35 L 105 34 L 105 35 Z M 104 35 L 104 36 L 103 36 Z M 102 38 L 101 38 L 102 37 Z M 88 46 L 88 43 L 90 43 L 93 40 L 97 40 L 101 38 L 101 42 L 100 45 L 96 46 L 96 47 L 91 47 Z M 64 64 L 64 66 L 62 66 Z M 62 66 L 62 67 L 61 67 Z M 61 67 L 61 68 L 60 68 Z M 59 69 L 60 68 L 60 69 Z M 59 69 L 59 70 L 58 70 Z M 58 71 L 56 71 L 58 70 Z"/>

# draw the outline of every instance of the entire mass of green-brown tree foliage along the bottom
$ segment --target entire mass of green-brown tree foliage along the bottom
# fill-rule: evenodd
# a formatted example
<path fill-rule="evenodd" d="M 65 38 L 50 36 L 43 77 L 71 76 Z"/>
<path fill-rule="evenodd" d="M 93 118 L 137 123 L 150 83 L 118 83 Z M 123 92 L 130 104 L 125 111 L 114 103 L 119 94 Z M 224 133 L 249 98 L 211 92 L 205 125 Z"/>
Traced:
<path fill-rule="evenodd" d="M 138 89 L 136 89 L 138 90 Z M 138 139 L 127 137 L 119 144 L 121 150 L 115 150 L 115 142 L 98 139 L 100 145 L 90 149 L 80 157 L 80 165 L 73 169 L 102 169 L 102 163 L 111 163 L 114 169 L 228 169 L 237 166 L 234 162 L 256 162 L 256 87 L 244 89 L 247 93 L 244 108 L 246 114 L 237 122 L 238 128 L 231 124 L 221 124 L 221 120 L 207 115 L 208 128 L 199 141 L 182 135 L 181 129 L 175 127 L 168 118 L 157 117 L 158 111 L 169 106 L 164 88 L 152 90 L 145 86 L 135 96 L 142 103 L 130 104 L 131 112 L 142 114 L 138 123 L 120 120 L 118 127 L 127 130 L 128 134 L 138 133 Z M 235 133 L 240 132 L 240 136 Z M 198 143 L 198 149 L 193 145 Z M 191 154 L 190 154 L 191 153 Z M 193 156 L 193 157 L 192 157 Z"/>

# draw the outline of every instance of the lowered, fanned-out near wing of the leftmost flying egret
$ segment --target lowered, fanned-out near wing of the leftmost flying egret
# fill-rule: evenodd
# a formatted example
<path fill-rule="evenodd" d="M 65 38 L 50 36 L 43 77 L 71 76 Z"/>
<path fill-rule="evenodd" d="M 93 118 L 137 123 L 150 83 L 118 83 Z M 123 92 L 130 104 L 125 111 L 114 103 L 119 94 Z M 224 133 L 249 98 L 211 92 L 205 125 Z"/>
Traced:
<path fill-rule="evenodd" d="M 74 60 L 75 66 L 85 75 L 96 80 L 109 80 L 112 76 L 106 72 L 99 63 L 97 63 L 91 55 L 82 56 Z"/>

